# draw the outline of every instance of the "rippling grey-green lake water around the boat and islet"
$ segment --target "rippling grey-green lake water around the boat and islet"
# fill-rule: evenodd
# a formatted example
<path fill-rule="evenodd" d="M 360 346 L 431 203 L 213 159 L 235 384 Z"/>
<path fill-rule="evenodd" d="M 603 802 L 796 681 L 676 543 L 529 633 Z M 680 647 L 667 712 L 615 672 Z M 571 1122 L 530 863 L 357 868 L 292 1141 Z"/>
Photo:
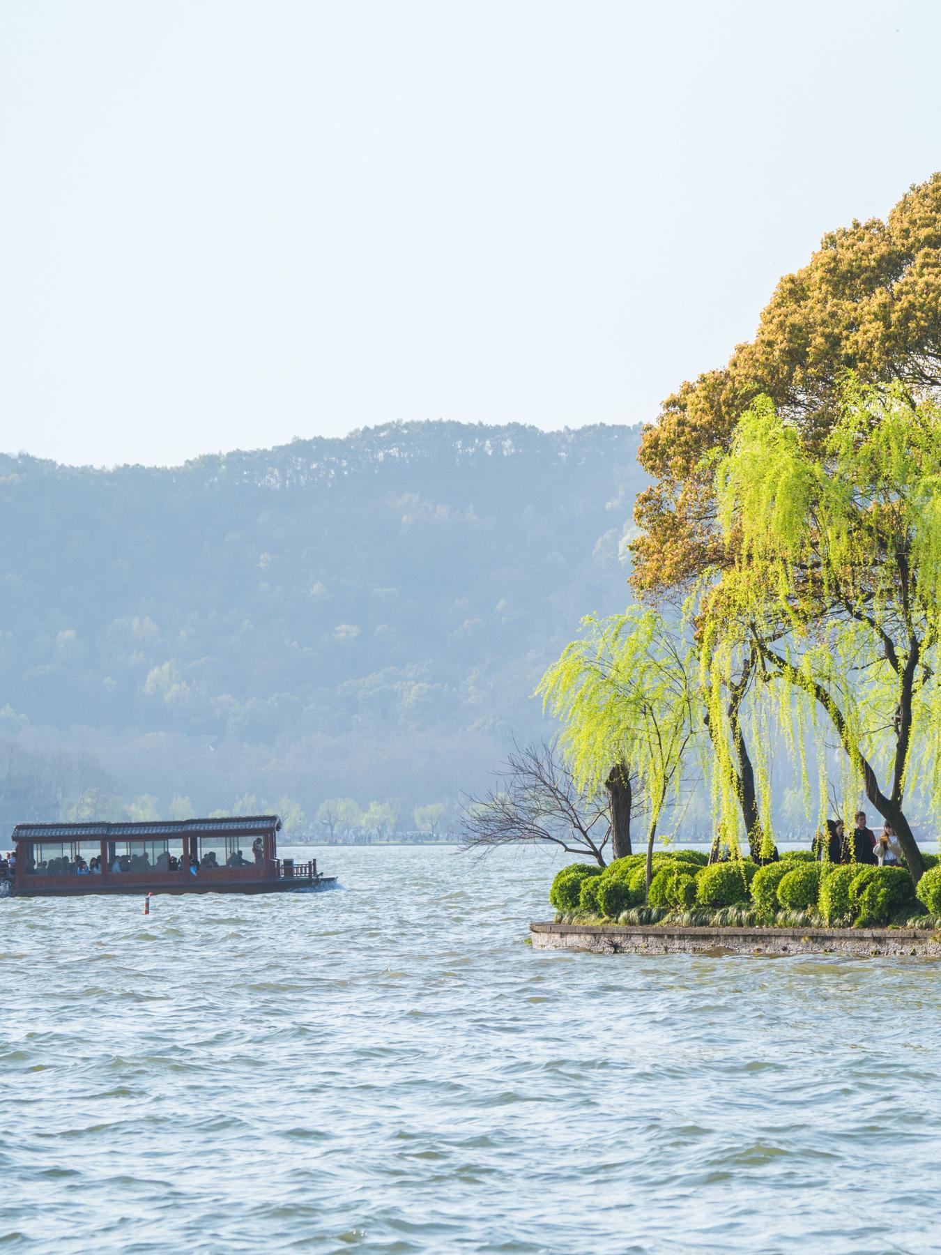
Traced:
<path fill-rule="evenodd" d="M 936 963 L 537 954 L 558 861 L 315 852 L 0 902 L 3 1251 L 941 1246 Z"/>

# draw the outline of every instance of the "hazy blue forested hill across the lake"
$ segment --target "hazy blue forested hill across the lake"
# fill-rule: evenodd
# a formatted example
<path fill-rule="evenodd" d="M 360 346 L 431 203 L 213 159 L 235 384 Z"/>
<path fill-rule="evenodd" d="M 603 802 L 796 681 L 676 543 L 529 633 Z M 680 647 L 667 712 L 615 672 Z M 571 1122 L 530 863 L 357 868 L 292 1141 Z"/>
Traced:
<path fill-rule="evenodd" d="M 529 694 L 581 615 L 627 600 L 639 434 L 396 423 L 173 469 L 0 457 L 3 820 L 89 789 L 310 812 L 479 786 L 542 728 Z"/>

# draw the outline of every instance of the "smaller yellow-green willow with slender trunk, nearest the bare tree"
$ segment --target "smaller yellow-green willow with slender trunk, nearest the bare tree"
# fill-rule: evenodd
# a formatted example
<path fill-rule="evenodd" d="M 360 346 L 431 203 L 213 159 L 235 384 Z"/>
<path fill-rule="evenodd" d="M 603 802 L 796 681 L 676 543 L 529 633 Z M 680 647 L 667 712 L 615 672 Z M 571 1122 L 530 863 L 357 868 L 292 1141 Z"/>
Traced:
<path fill-rule="evenodd" d="M 537 689 L 562 719 L 561 743 L 580 787 L 636 778 L 647 808 L 647 889 L 657 825 L 678 796 L 686 753 L 701 732 L 696 653 L 652 610 L 582 620 Z"/>

